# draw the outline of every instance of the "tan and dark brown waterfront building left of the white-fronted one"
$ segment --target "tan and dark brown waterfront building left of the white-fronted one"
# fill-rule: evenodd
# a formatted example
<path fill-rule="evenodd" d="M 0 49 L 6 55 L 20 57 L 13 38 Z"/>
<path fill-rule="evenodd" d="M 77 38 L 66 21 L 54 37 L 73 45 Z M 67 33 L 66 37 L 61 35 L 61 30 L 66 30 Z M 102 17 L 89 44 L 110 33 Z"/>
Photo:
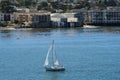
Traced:
<path fill-rule="evenodd" d="M 15 21 L 26 25 L 25 27 L 41 28 L 50 26 L 50 13 L 14 13 L 14 18 Z"/>

